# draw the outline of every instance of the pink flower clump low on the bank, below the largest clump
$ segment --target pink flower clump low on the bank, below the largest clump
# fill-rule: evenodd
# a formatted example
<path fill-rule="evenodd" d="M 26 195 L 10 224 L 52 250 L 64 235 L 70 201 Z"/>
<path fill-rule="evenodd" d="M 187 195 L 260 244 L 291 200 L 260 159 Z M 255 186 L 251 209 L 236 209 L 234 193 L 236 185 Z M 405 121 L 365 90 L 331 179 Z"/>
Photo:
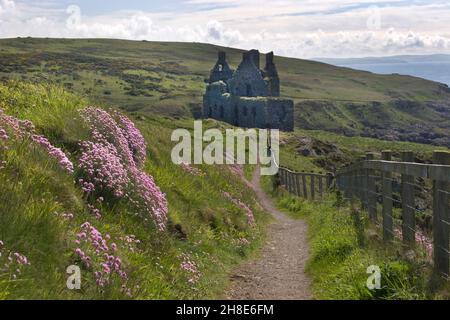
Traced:
<path fill-rule="evenodd" d="M 80 229 L 75 240 L 78 245 L 75 254 L 86 268 L 93 271 L 96 284 L 104 288 L 114 281 L 119 281 L 122 288 L 131 294 L 131 290 L 127 288 L 128 274 L 124 270 L 122 260 L 115 254 L 116 245 L 108 244 L 111 237 L 103 237 L 89 222 L 83 223 Z"/>

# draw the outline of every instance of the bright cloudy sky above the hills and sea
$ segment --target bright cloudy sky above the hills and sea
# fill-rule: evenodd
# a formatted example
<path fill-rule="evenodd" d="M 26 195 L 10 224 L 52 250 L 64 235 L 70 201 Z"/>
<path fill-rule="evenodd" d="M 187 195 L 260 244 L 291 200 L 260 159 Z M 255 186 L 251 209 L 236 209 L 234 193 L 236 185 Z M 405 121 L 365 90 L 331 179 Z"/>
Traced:
<path fill-rule="evenodd" d="M 299 57 L 450 53 L 450 0 L 0 0 L 0 38 L 208 42 Z"/>

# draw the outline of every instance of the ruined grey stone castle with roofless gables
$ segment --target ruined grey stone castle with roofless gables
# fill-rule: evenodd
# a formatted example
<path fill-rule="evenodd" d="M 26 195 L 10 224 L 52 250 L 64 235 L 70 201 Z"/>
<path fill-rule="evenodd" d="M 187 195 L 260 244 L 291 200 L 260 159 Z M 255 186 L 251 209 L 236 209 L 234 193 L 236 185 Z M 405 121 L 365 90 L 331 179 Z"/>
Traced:
<path fill-rule="evenodd" d="M 273 61 L 266 55 L 260 69 L 258 50 L 245 52 L 236 71 L 226 61 L 225 52 L 211 71 L 203 97 L 203 115 L 244 128 L 294 129 L 294 103 L 280 98 L 280 79 Z"/>

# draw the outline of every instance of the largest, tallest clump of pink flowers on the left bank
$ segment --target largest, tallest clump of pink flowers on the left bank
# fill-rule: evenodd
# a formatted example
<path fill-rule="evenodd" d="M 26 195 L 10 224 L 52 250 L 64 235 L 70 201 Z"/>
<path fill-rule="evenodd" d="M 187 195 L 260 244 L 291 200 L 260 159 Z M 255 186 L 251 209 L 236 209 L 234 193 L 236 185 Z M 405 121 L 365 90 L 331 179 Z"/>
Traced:
<path fill-rule="evenodd" d="M 81 144 L 79 183 L 87 194 L 128 200 L 137 214 L 151 217 L 165 230 L 166 196 L 142 170 L 144 137 L 130 119 L 117 111 L 111 114 L 95 107 L 82 111 L 92 140 Z"/>

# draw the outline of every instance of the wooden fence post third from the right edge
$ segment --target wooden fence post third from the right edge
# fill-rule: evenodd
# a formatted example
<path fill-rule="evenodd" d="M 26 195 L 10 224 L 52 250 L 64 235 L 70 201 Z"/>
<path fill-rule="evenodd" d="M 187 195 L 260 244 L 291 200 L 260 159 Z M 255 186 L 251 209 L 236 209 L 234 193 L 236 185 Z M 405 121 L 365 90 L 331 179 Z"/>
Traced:
<path fill-rule="evenodd" d="M 381 153 L 382 160 L 391 161 L 392 152 Z M 394 221 L 392 218 L 392 172 L 382 171 L 383 185 L 383 239 L 392 240 L 394 235 Z"/>

